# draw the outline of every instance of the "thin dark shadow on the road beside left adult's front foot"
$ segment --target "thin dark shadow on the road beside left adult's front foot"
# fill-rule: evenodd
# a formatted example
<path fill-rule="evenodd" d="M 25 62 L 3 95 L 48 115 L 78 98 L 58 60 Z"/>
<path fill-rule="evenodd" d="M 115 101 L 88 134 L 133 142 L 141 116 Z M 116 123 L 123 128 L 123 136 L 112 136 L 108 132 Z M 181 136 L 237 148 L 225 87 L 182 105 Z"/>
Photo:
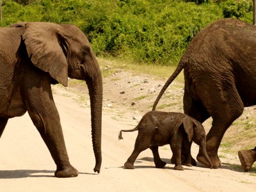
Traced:
<path fill-rule="evenodd" d="M 0 179 L 21 179 L 27 177 L 54 177 L 54 170 L 0 170 Z M 81 173 L 92 174 L 96 173 Z"/>

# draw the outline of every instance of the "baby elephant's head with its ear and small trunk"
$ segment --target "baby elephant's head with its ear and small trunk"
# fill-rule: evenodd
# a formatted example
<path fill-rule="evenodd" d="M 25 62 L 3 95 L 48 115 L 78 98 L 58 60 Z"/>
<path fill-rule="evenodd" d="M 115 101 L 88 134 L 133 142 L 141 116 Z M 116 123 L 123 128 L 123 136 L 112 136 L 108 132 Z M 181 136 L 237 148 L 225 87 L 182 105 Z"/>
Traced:
<path fill-rule="evenodd" d="M 200 152 L 204 154 L 207 163 L 209 163 L 208 166 L 212 168 L 211 160 L 206 151 L 206 134 L 203 125 L 190 116 L 185 116 L 182 123 L 186 133 L 188 134 L 189 142 L 194 141 L 199 145 Z"/>

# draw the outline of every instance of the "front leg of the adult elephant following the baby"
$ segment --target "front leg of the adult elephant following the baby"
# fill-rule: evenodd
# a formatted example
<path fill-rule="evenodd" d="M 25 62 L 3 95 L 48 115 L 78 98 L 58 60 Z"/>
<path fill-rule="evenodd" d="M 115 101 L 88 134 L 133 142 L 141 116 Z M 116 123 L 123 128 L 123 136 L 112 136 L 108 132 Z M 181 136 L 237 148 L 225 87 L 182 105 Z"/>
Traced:
<path fill-rule="evenodd" d="M 40 77 L 40 79 L 38 79 Z M 26 81 L 22 95 L 29 116 L 36 129 L 40 132 L 49 149 L 57 169 L 56 177 L 76 177 L 78 172 L 68 159 L 67 149 L 60 124 L 60 116 L 54 104 L 51 92 L 51 78 L 37 74 Z M 35 84 L 33 84 L 35 83 Z"/>

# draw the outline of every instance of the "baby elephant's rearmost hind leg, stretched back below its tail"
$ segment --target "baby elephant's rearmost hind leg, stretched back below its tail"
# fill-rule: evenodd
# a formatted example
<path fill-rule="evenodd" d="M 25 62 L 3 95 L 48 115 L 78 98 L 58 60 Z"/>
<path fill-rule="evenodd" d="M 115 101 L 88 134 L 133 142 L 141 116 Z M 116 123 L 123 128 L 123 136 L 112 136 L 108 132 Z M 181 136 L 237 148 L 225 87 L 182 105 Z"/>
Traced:
<path fill-rule="evenodd" d="M 137 159 L 137 157 L 143 150 L 146 150 L 149 147 L 151 138 L 152 138 L 151 135 L 146 136 L 144 133 L 141 133 L 139 130 L 138 137 L 136 138 L 136 141 L 135 141 L 134 150 L 132 151 L 131 156 L 127 159 L 127 161 L 124 164 L 125 168 L 134 169 L 134 161 Z"/>

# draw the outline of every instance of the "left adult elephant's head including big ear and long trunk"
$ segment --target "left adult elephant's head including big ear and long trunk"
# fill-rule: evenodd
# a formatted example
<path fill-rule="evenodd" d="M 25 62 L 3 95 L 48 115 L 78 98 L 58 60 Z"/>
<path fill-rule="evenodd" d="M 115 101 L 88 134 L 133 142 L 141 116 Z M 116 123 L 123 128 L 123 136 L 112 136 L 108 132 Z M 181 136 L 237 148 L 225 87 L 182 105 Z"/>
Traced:
<path fill-rule="evenodd" d="M 68 77 L 86 81 L 90 95 L 92 142 L 95 172 L 100 172 L 102 77 L 92 47 L 74 25 L 47 22 L 21 22 L 10 26 L 24 28 L 21 36 L 28 58 L 35 67 L 48 72 L 52 83 L 68 86 Z"/>

